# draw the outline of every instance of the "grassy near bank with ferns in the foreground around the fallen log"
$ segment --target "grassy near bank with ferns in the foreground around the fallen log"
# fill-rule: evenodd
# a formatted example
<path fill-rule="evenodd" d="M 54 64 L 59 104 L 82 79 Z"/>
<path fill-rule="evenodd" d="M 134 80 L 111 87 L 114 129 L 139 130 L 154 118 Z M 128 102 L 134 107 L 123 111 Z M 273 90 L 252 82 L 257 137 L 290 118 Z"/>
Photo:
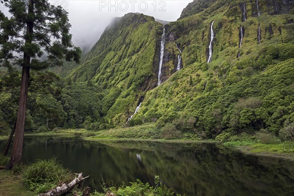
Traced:
<path fill-rule="evenodd" d="M 7 163 L 8 157 L 0 156 L 0 166 Z M 0 195 L 1 196 L 33 196 L 45 193 L 51 188 L 69 183 L 74 179 L 74 174 L 64 168 L 54 158 L 39 160 L 26 166 L 16 165 L 12 171 L 0 171 Z M 103 193 L 94 190 L 90 196 L 173 196 L 172 188 L 163 185 L 159 176 L 155 176 L 155 186 L 143 183 L 139 179 L 130 182 L 130 186 L 124 183 L 119 187 L 107 187 L 101 184 Z M 83 188 L 75 186 L 67 196 L 83 195 Z M 180 195 L 177 195 L 180 196 Z"/>

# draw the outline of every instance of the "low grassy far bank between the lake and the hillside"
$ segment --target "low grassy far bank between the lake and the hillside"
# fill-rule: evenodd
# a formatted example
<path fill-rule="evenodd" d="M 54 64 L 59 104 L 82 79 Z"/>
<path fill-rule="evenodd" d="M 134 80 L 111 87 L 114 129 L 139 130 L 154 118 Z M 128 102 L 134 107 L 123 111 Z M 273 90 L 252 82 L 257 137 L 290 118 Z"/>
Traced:
<path fill-rule="evenodd" d="M 282 142 L 278 137 L 268 132 L 254 134 L 221 133 L 215 140 L 206 140 L 196 136 L 195 133 L 175 132 L 167 134 L 163 128 L 155 123 L 143 125 L 112 128 L 108 130 L 93 131 L 86 129 L 55 129 L 50 132 L 26 134 L 27 136 L 80 136 L 91 141 L 148 141 L 165 143 L 222 143 L 225 147 L 238 149 L 246 154 L 263 155 L 269 157 L 286 158 L 294 161 L 294 142 Z M 1 136 L 0 139 L 7 137 Z"/>

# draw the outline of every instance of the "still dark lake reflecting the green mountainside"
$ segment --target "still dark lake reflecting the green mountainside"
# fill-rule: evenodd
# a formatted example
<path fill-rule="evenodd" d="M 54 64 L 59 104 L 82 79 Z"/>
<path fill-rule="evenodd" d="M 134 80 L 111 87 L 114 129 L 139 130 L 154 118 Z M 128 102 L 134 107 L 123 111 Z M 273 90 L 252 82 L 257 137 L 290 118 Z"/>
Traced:
<path fill-rule="evenodd" d="M 5 141 L 0 141 L 2 151 Z M 186 196 L 294 196 L 294 163 L 249 156 L 216 144 L 96 142 L 79 137 L 25 137 L 24 162 L 55 156 L 73 172 L 90 175 L 86 185 L 119 186 L 155 175 Z"/>

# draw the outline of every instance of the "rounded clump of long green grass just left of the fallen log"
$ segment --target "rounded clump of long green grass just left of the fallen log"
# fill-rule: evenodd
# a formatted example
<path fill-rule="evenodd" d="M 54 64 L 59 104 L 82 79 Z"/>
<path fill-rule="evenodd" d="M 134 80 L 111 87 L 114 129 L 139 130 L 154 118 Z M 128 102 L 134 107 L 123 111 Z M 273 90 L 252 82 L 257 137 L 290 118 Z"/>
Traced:
<path fill-rule="evenodd" d="M 73 179 L 70 170 L 56 161 L 55 158 L 39 160 L 28 165 L 22 173 L 22 181 L 27 188 L 37 193 L 45 192 L 58 183 L 68 183 Z"/>

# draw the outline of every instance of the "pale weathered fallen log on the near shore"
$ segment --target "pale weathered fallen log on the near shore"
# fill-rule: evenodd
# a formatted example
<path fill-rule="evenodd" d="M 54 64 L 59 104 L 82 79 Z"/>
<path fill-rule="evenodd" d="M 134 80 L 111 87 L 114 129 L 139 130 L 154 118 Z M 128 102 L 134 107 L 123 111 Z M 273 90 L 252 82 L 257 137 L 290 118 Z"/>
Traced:
<path fill-rule="evenodd" d="M 75 173 L 75 174 L 77 175 L 77 177 L 75 177 L 73 181 L 71 181 L 70 183 L 62 184 L 61 187 L 50 189 L 48 192 L 39 194 L 38 196 L 62 196 L 64 194 L 69 193 L 71 190 L 73 190 L 75 185 L 79 184 L 81 181 L 89 177 L 89 176 L 83 177 L 82 176 L 83 173 Z"/>

